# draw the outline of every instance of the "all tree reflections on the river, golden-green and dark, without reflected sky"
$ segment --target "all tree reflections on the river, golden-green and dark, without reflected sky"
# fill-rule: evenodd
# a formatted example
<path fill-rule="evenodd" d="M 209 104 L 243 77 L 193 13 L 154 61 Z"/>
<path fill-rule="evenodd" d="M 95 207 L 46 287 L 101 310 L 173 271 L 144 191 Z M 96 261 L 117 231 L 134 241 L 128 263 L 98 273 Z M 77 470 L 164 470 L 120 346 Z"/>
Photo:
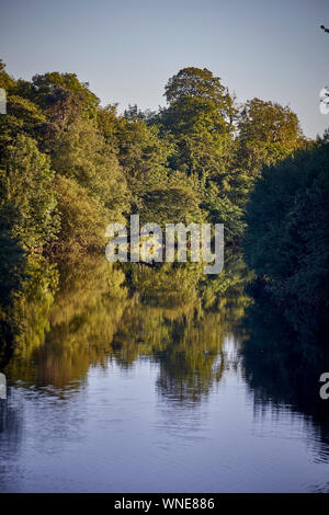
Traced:
<path fill-rule="evenodd" d="M 83 388 L 91 367 L 114 362 L 125 370 L 147 358 L 158 366 L 161 398 L 193 407 L 240 367 L 256 411 L 285 407 L 302 415 L 328 458 L 318 384 L 328 354 L 300 342 L 270 299 L 251 300 L 252 274 L 240 256 L 228 255 L 225 272 L 206 277 L 198 264 L 113 265 L 88 255 L 50 264 L 18 255 L 22 270 L 1 299 L 1 367 L 11 384 L 65 398 Z M 8 407 L 0 407 L 1 431 L 19 435 Z"/>

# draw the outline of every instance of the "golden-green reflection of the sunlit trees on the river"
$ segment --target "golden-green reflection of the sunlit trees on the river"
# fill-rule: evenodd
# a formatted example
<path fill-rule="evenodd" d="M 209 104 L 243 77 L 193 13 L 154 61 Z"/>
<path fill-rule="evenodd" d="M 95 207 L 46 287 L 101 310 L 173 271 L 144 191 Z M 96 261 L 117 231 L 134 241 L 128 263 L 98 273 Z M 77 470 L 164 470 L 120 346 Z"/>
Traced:
<path fill-rule="evenodd" d="M 240 260 L 234 266 L 243 267 Z M 83 382 L 90 366 L 115 359 L 128 368 L 148 356 L 160 365 L 164 394 L 197 400 L 220 380 L 225 335 L 236 331 L 248 304 L 232 271 L 213 282 L 203 277 L 194 264 L 122 268 L 101 256 L 57 266 L 30 262 L 14 304 L 20 331 L 5 371 L 26 386 L 64 390 Z"/>

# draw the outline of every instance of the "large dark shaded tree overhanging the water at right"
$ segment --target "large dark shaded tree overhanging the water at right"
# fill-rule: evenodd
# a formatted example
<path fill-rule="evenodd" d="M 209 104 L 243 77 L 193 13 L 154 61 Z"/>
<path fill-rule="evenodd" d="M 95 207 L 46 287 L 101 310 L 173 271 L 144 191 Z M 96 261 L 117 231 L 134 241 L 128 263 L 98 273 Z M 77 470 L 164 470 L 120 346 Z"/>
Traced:
<path fill-rule="evenodd" d="M 328 323 L 328 167 L 322 140 L 264 169 L 247 211 L 247 261 L 307 334 Z"/>

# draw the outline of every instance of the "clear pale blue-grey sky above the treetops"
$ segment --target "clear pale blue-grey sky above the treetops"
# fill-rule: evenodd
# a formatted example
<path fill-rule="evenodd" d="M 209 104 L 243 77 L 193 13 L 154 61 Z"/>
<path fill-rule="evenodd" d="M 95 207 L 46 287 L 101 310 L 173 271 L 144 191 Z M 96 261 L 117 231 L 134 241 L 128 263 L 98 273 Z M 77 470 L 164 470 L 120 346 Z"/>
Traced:
<path fill-rule="evenodd" d="M 329 84 L 329 0 L 1 0 L 1 57 L 24 79 L 76 72 L 102 104 L 164 104 L 186 66 L 222 77 L 239 101 L 259 96 L 322 134 L 319 90 Z"/>

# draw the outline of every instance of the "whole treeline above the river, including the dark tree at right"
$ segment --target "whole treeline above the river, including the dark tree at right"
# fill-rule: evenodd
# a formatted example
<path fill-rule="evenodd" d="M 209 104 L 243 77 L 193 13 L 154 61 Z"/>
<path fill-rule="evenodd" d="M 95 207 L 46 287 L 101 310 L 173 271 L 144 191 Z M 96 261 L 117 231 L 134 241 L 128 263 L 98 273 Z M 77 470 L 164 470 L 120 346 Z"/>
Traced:
<path fill-rule="evenodd" d="M 161 226 L 222 222 L 226 243 L 245 241 L 248 263 L 290 316 L 303 299 L 322 320 L 328 138 L 307 140 L 288 106 L 239 104 L 205 68 L 171 77 L 166 107 L 123 115 L 116 104 L 102 107 L 75 73 L 15 80 L 0 62 L 0 237 L 9 253 L 104 248 L 107 224 L 131 213 Z"/>

